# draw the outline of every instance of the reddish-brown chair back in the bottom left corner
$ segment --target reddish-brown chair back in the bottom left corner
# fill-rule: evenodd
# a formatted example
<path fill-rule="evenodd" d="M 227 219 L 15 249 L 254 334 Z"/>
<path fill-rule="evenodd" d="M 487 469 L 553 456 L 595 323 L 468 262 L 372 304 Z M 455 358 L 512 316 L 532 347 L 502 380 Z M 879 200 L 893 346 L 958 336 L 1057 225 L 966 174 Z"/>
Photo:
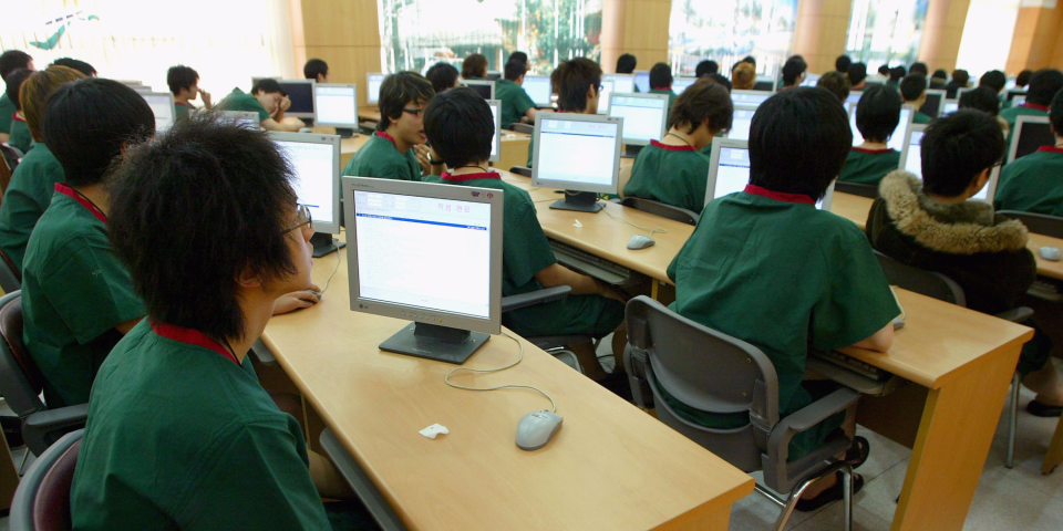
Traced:
<path fill-rule="evenodd" d="M 69 433 L 33 461 L 11 499 L 11 531 L 70 531 L 70 488 L 84 429 Z"/>

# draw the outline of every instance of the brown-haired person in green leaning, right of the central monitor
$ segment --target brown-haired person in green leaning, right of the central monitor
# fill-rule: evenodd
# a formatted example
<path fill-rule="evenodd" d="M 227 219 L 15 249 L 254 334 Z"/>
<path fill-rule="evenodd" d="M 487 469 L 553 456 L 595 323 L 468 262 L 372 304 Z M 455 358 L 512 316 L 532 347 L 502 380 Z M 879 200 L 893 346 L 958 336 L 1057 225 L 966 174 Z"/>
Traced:
<path fill-rule="evenodd" d="M 701 153 L 712 138 L 731 127 L 734 105 L 723 86 L 699 81 L 675 98 L 669 131 L 651 140 L 623 187 L 625 197 L 641 197 L 701 212 L 705 208 L 709 157 Z"/>

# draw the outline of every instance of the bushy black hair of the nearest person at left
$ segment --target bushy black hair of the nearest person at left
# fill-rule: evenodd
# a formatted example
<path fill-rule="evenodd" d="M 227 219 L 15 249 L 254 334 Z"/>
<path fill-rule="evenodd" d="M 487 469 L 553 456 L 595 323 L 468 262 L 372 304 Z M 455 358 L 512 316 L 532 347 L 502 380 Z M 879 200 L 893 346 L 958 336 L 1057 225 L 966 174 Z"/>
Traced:
<path fill-rule="evenodd" d="M 264 131 L 217 116 L 178 121 L 109 175 L 107 236 L 153 321 L 246 337 L 237 278 L 298 271 L 287 239 L 292 171 Z M 209 257 L 209 259 L 205 259 Z"/>

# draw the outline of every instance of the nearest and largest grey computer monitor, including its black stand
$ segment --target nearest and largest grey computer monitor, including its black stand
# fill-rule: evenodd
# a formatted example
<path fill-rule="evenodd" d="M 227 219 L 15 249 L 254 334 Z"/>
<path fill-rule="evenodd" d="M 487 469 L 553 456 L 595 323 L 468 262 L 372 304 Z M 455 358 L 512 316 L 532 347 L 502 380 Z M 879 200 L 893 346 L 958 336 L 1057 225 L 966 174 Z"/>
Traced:
<path fill-rule="evenodd" d="M 503 196 L 343 177 L 351 311 L 413 321 L 380 350 L 462 364 L 500 332 Z"/>

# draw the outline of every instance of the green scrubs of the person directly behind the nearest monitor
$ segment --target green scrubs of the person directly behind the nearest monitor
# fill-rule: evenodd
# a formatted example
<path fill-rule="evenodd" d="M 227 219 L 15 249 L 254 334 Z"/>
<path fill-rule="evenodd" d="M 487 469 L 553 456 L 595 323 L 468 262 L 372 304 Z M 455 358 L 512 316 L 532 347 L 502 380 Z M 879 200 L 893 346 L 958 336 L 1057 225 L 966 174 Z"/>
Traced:
<path fill-rule="evenodd" d="M 426 183 L 494 188 L 505 194 L 502 239 L 502 295 L 541 290 L 535 273 L 557 263 L 528 192 L 498 174 L 425 177 Z M 569 295 L 560 301 L 522 308 L 502 315 L 502 323 L 523 337 L 609 334 L 623 321 L 623 304 L 600 295 Z"/>

